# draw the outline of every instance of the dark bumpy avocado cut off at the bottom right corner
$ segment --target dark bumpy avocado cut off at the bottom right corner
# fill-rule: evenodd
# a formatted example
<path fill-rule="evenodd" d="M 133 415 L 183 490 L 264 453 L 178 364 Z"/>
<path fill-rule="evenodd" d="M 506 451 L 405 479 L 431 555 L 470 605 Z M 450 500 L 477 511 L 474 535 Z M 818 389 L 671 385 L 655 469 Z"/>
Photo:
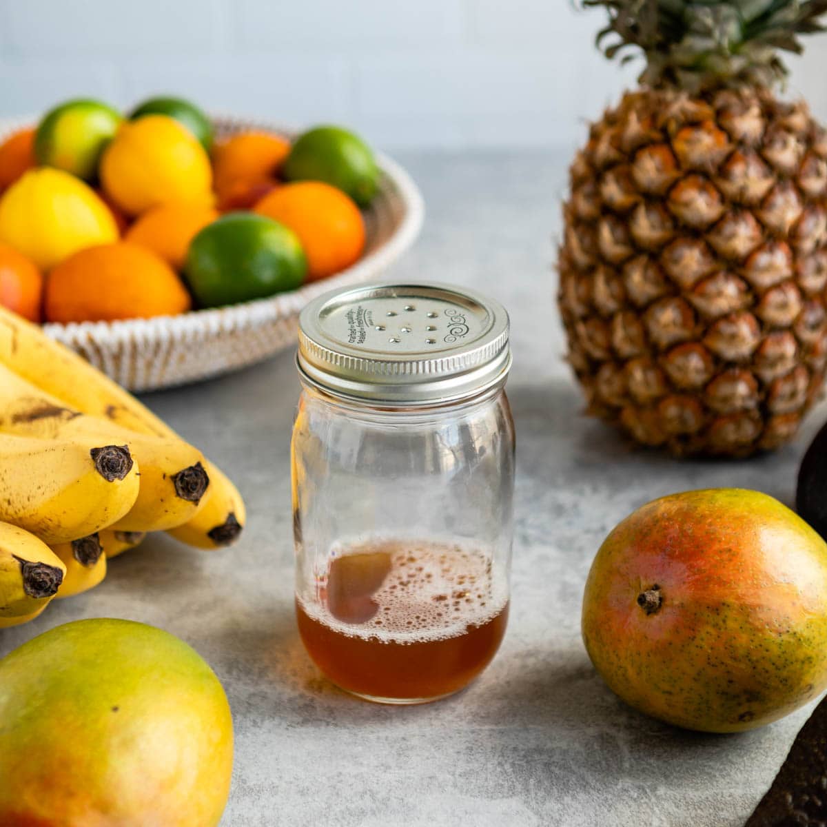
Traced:
<path fill-rule="evenodd" d="M 827 827 L 827 699 L 796 735 L 744 827 Z"/>

